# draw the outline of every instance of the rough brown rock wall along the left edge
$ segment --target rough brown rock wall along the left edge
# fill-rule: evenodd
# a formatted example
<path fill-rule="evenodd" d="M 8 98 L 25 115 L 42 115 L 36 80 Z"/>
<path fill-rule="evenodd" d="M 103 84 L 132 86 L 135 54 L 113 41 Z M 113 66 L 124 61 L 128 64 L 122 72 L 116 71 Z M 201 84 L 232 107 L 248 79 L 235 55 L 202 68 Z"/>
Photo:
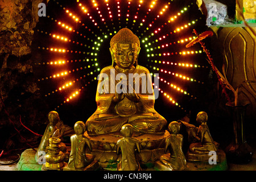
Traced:
<path fill-rule="evenodd" d="M 45 128 L 40 125 L 47 123 L 47 106 L 34 80 L 31 63 L 33 28 L 39 20 L 40 2 L 0 1 L 0 148 L 17 148 L 34 139 L 20 119 L 41 134 Z"/>

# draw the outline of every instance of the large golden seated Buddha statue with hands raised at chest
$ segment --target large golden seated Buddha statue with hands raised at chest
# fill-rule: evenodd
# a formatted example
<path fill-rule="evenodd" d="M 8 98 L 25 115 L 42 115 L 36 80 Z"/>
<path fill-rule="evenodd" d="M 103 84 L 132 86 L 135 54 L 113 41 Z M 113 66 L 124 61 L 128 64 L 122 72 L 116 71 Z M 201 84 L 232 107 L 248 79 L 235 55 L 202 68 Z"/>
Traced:
<path fill-rule="evenodd" d="M 97 110 L 86 121 L 89 135 L 120 131 L 126 123 L 141 133 L 163 133 L 166 119 L 154 109 L 155 94 L 148 69 L 138 65 L 139 38 L 122 28 L 110 41 L 112 65 L 102 69 Z"/>

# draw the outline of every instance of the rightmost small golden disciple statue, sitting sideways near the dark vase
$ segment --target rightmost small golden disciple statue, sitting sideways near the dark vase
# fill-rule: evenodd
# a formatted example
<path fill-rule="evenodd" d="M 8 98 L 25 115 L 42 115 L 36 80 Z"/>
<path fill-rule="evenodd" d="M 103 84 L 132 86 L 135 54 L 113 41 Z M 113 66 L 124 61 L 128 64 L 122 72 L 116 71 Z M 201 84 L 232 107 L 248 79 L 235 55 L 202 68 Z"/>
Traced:
<path fill-rule="evenodd" d="M 197 139 L 200 142 L 190 144 L 189 152 L 192 154 L 209 154 L 209 151 L 217 151 L 218 149 L 218 143 L 214 142 L 210 135 L 207 120 L 208 115 L 204 111 L 197 114 L 196 121 L 200 124 L 197 130 Z"/>

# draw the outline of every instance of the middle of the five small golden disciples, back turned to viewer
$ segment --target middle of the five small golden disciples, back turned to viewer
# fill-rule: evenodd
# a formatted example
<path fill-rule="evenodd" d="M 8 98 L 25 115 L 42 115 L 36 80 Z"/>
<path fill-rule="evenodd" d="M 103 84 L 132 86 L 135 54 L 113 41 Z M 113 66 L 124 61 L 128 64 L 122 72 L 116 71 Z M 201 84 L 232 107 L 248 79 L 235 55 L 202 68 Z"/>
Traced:
<path fill-rule="evenodd" d="M 124 138 L 117 141 L 117 155 L 122 152 L 122 160 L 117 166 L 118 171 L 141 171 L 136 159 L 136 152 L 141 152 L 139 140 L 132 138 L 133 126 L 125 124 L 122 126 L 121 134 Z"/>

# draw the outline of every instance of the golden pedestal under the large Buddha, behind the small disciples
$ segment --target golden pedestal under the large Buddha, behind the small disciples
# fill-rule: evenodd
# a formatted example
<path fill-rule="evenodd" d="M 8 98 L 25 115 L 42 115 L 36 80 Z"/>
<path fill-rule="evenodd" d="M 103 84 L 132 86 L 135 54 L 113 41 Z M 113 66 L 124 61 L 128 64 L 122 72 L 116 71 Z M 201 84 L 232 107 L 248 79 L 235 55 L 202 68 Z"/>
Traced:
<path fill-rule="evenodd" d="M 166 130 L 165 133 L 133 133 L 133 138 L 137 138 L 141 144 L 141 153 L 137 154 L 138 161 L 142 166 L 154 164 L 161 155 L 164 154 L 165 139 L 170 133 Z M 121 160 L 121 155 L 117 155 L 117 140 L 123 138 L 121 133 L 115 132 L 102 135 L 88 135 L 85 132 L 85 137 L 89 138 L 92 143 L 92 151 L 86 153 L 93 154 L 94 160 L 97 160 L 102 168 L 117 168 L 117 164 Z"/>

